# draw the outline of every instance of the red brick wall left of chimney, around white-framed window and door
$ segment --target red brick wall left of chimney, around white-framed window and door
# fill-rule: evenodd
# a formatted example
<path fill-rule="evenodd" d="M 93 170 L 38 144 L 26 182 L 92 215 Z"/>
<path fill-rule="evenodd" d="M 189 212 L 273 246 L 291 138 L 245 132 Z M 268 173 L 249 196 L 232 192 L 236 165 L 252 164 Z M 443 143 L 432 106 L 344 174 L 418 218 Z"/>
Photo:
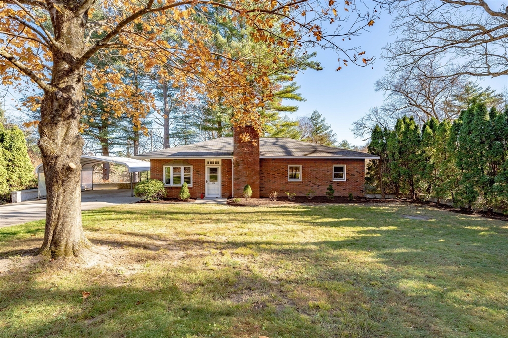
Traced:
<path fill-rule="evenodd" d="M 150 160 L 150 178 L 163 180 L 163 166 L 174 159 L 157 159 Z M 200 198 L 201 194 L 205 193 L 205 180 L 206 169 L 205 160 L 188 160 L 182 159 L 188 164 L 193 166 L 193 186 L 189 186 L 189 194 L 192 198 Z M 221 167 L 221 183 L 222 183 L 222 197 L 231 197 L 231 160 L 222 160 Z M 180 186 L 167 186 L 166 194 L 169 198 L 178 198 L 180 193 Z"/>

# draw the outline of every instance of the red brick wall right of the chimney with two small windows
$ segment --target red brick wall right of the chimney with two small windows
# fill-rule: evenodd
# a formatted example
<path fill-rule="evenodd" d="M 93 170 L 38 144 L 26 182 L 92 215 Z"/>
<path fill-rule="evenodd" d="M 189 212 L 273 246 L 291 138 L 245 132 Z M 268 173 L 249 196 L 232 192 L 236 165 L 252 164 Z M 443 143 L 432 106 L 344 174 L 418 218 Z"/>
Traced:
<path fill-rule="evenodd" d="M 272 191 L 278 191 L 285 197 L 285 192 L 305 196 L 309 189 L 316 191 L 316 196 L 326 196 L 330 183 L 335 196 L 363 196 L 365 175 L 364 160 L 331 160 L 331 159 L 261 159 L 260 160 L 261 197 L 268 197 Z M 288 181 L 288 165 L 302 166 L 302 180 Z M 333 180 L 333 165 L 346 166 L 346 180 Z M 236 177 L 236 168 L 235 168 Z"/>

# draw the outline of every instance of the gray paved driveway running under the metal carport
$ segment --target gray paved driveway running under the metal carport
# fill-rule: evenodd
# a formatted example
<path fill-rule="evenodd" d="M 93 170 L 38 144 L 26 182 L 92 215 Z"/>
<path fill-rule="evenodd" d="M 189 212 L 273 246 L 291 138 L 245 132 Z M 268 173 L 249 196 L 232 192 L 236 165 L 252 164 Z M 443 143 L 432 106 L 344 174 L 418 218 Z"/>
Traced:
<path fill-rule="evenodd" d="M 81 210 L 99 209 L 118 204 L 131 204 L 139 200 L 137 197 L 131 197 L 130 189 L 88 190 L 81 192 Z M 0 206 L 0 228 L 45 217 L 46 200 L 25 201 Z"/>

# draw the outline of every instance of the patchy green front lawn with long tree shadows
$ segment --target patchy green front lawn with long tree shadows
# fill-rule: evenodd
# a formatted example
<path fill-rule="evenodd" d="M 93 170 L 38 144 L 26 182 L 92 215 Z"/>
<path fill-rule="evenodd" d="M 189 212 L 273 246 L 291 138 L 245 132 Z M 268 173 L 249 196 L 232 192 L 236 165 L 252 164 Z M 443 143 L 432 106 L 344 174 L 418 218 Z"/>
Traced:
<path fill-rule="evenodd" d="M 23 256 L 43 221 L 0 229 L 0 336 L 507 336 L 499 220 L 404 204 L 136 204 L 83 223 L 111 256 L 92 267 Z"/>

